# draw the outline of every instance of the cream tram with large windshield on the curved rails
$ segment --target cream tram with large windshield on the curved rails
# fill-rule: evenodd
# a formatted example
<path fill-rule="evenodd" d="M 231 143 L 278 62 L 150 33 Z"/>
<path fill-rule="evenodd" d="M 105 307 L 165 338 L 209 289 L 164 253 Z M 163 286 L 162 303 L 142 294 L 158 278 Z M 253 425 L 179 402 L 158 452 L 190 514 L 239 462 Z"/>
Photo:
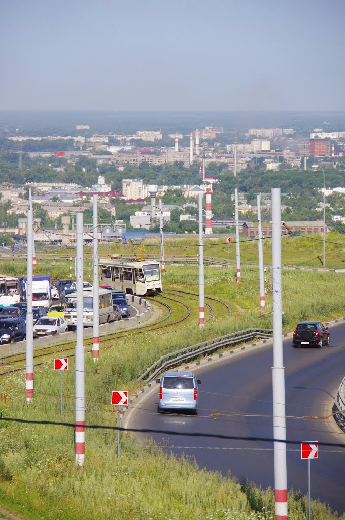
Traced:
<path fill-rule="evenodd" d="M 101 284 L 114 290 L 139 296 L 162 291 L 161 265 L 155 260 L 103 258 L 98 265 Z"/>

